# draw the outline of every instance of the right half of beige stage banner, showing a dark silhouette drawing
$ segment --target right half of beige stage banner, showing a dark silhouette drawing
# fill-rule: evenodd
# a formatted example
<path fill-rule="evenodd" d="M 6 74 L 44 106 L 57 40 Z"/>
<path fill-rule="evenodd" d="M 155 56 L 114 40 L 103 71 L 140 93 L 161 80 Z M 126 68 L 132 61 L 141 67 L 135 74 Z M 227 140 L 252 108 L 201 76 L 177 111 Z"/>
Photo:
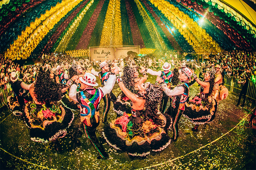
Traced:
<path fill-rule="evenodd" d="M 140 54 L 140 46 L 116 47 L 116 59 L 128 61 L 129 58 L 138 58 L 138 54 Z"/>

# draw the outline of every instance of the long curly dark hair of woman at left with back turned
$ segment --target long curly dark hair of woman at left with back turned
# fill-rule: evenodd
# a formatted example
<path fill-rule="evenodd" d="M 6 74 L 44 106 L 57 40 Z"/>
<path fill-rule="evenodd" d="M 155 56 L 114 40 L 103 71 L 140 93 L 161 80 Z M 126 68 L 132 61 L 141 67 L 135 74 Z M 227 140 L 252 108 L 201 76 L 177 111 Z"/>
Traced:
<path fill-rule="evenodd" d="M 40 68 L 35 82 L 35 96 L 38 102 L 45 103 L 46 107 L 51 107 L 51 102 L 57 102 L 61 99 L 61 91 L 56 82 L 50 79 L 49 72 Z"/>

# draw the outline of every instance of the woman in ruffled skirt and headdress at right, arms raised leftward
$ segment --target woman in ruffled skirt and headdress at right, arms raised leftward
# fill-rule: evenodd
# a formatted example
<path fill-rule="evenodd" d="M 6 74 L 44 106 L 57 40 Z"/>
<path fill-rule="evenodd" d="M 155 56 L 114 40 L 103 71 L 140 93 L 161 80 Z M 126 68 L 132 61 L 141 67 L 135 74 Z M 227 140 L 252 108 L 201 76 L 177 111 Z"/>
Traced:
<path fill-rule="evenodd" d="M 192 71 L 193 73 L 193 71 Z M 185 103 L 185 111 L 183 115 L 187 117 L 192 123 L 196 124 L 192 131 L 198 131 L 199 124 L 210 123 L 215 117 L 217 110 L 217 103 L 211 97 L 214 85 L 215 69 L 212 68 L 205 72 L 204 81 L 199 80 L 195 73 L 193 73 L 196 82 L 201 85 L 200 93 L 195 97 L 190 97 Z"/>

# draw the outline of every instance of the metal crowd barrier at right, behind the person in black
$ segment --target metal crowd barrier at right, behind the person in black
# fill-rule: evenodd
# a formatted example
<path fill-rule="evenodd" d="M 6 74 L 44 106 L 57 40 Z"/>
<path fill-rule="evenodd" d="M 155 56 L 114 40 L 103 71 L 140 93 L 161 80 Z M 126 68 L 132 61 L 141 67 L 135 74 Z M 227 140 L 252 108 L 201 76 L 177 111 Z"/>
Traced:
<path fill-rule="evenodd" d="M 225 75 L 225 83 L 224 85 L 228 89 L 229 92 L 235 95 L 239 95 L 241 89 L 242 89 L 242 84 L 239 84 L 237 81 L 240 80 L 236 77 L 228 76 Z M 256 82 L 251 81 L 249 82 L 248 89 L 246 96 L 256 100 Z"/>

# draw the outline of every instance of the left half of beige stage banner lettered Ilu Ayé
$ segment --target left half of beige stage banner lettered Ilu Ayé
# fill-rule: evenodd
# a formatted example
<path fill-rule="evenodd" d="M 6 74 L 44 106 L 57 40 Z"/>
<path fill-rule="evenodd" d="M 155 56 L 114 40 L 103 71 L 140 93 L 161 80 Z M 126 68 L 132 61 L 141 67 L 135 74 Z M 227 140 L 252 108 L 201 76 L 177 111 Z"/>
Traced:
<path fill-rule="evenodd" d="M 113 47 L 89 47 L 90 49 L 90 60 L 93 59 L 100 60 L 101 62 L 104 60 L 114 60 L 115 57 L 115 48 Z"/>

